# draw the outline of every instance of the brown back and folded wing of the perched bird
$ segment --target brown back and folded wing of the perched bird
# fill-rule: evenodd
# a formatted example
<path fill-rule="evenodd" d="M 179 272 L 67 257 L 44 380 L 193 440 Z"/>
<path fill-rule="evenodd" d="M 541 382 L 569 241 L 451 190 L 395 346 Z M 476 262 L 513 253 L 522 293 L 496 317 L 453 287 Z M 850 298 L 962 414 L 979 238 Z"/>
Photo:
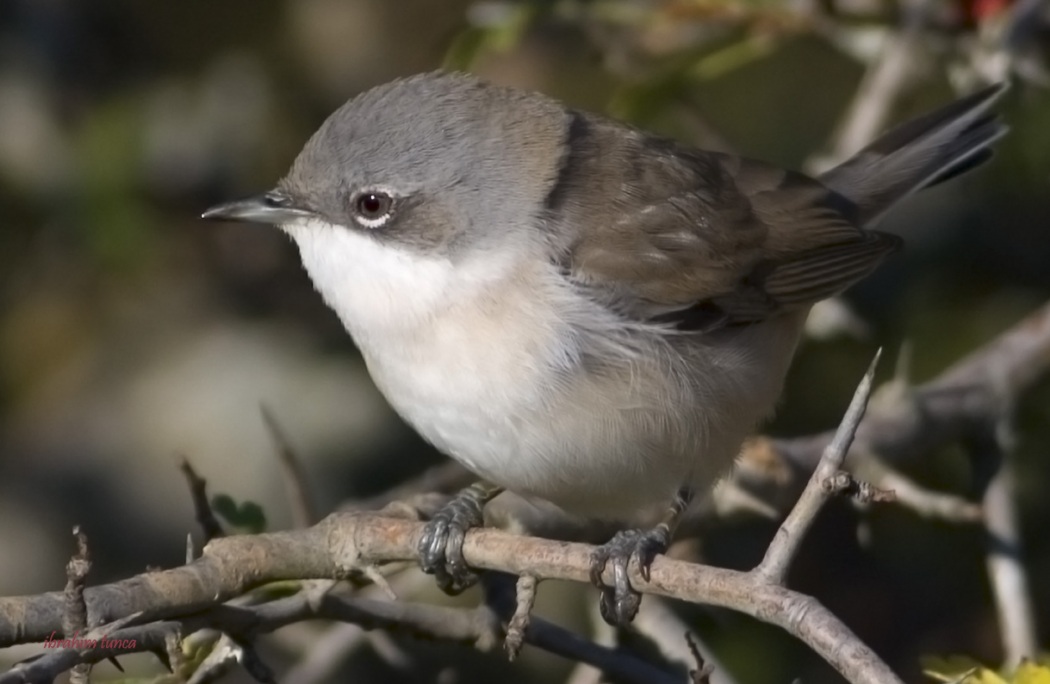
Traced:
<path fill-rule="evenodd" d="M 899 245 L 800 173 L 576 115 L 548 216 L 563 266 L 633 318 L 707 330 L 807 307 Z M 600 151 L 601 150 L 601 151 Z"/>

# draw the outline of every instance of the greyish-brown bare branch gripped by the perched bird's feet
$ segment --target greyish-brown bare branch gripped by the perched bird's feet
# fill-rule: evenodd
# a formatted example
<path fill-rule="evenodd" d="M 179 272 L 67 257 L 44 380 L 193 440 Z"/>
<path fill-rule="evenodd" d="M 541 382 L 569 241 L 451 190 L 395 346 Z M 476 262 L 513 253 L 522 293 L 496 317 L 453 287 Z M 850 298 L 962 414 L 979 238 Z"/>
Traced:
<path fill-rule="evenodd" d="M 88 588 L 85 593 L 88 613 L 112 617 L 144 609 L 149 612 L 150 619 L 161 620 L 215 605 L 267 582 L 338 579 L 363 564 L 415 559 L 422 527 L 422 523 L 415 521 L 342 513 L 331 515 L 307 530 L 216 539 L 205 548 L 204 556 L 189 565 Z M 576 582 L 589 582 L 592 551 L 593 547 L 587 544 L 521 537 L 497 530 L 472 531 L 464 544 L 466 561 L 472 567 Z M 604 579 L 611 581 L 611 577 Z M 646 593 L 728 607 L 778 625 L 801 639 L 857 684 L 898 681 L 878 657 L 818 601 L 780 586 L 763 584 L 753 575 L 658 557 L 652 564 L 650 582 L 645 582 L 636 571 L 632 572 L 631 580 Z M 326 596 L 321 605 L 330 605 L 332 597 Z M 264 610 L 274 603 L 256 606 L 253 610 Z M 306 601 L 302 603 L 308 605 Z M 52 625 L 60 622 L 59 606 L 60 598 L 54 594 L 0 599 L 0 646 L 42 640 Z M 417 608 L 418 605 L 376 602 L 377 612 L 394 612 L 400 618 L 404 618 L 404 612 Z M 245 608 L 223 606 L 213 608 L 209 615 L 226 615 L 223 610 L 243 612 Z M 292 622 L 310 615 L 307 608 L 300 607 L 294 615 L 284 616 L 282 620 Z M 368 615 L 358 612 L 352 620 L 375 619 L 375 612 Z M 226 617 L 229 622 L 229 615 Z M 272 622 L 279 621 L 274 618 Z M 398 623 L 403 625 L 404 620 Z M 427 624 L 433 624 L 437 634 L 447 638 L 450 628 L 447 620 Z M 224 630 L 230 633 L 233 626 Z M 252 629 L 257 630 L 257 627 Z M 471 628 L 469 635 L 475 638 L 477 628 Z M 565 635 L 550 640 L 547 635 L 548 631 L 540 629 L 536 621 L 526 631 L 529 643 L 554 652 L 565 652 L 565 649 L 574 652 L 579 646 L 566 641 Z M 163 640 L 160 643 L 163 644 Z M 86 656 L 93 659 L 96 651 Z M 0 677 L 0 682 L 5 680 Z"/>

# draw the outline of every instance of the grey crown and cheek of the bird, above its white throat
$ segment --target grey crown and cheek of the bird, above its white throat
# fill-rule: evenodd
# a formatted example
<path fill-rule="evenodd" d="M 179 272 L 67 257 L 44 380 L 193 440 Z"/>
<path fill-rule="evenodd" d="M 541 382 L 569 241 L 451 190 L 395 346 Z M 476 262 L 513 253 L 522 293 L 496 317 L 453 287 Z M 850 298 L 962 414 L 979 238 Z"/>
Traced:
<path fill-rule="evenodd" d="M 424 249 L 526 224 L 556 181 L 568 113 L 544 96 L 430 72 L 373 88 L 306 144 L 280 190 L 326 221 L 352 219 L 361 192 L 395 198 L 374 232 Z M 381 233 L 381 235 L 380 235 Z"/>

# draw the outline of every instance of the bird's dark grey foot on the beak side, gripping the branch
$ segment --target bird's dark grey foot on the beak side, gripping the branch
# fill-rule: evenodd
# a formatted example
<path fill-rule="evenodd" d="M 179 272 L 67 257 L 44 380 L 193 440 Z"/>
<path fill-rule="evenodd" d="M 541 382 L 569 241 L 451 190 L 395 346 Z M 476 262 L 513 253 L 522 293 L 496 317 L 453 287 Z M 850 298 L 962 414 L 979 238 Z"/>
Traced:
<path fill-rule="evenodd" d="M 463 560 L 463 540 L 470 527 L 484 522 L 482 510 L 503 491 L 488 482 L 475 482 L 454 496 L 423 527 L 419 538 L 419 564 L 434 575 L 438 587 L 455 596 L 478 581 L 478 576 Z"/>

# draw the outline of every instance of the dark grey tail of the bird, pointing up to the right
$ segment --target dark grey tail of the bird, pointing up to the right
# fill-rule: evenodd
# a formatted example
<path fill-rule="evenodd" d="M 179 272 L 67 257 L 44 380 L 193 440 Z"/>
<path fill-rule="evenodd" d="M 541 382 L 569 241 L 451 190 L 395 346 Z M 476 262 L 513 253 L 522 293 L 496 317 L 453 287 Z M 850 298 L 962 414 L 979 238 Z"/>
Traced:
<path fill-rule="evenodd" d="M 820 180 L 856 206 L 859 225 L 869 224 L 916 190 L 987 161 L 1007 130 L 989 110 L 1008 88 L 999 83 L 909 121 Z"/>

